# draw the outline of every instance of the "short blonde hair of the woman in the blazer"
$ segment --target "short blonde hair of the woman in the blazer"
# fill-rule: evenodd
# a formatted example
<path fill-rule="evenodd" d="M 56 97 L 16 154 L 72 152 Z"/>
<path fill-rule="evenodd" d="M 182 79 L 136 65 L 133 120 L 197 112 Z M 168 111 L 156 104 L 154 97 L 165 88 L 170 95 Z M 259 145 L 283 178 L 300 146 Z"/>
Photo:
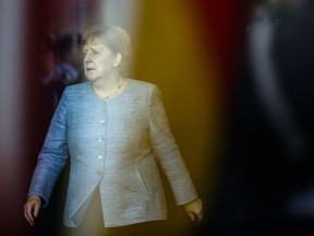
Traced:
<path fill-rule="evenodd" d="M 126 75 L 132 58 L 131 38 L 129 34 L 119 26 L 110 25 L 94 25 L 83 34 L 83 46 L 89 42 L 97 39 L 113 54 L 120 52 L 122 60 L 118 66 L 119 73 Z"/>

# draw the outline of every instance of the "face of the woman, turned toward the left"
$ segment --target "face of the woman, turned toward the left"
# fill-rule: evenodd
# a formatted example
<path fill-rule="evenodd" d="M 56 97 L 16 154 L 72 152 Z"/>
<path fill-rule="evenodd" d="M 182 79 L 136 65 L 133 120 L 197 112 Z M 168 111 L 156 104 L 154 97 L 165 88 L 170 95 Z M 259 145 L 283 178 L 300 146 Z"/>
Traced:
<path fill-rule="evenodd" d="M 88 40 L 84 45 L 83 58 L 85 76 L 92 82 L 117 72 L 113 67 L 116 55 L 97 39 Z"/>

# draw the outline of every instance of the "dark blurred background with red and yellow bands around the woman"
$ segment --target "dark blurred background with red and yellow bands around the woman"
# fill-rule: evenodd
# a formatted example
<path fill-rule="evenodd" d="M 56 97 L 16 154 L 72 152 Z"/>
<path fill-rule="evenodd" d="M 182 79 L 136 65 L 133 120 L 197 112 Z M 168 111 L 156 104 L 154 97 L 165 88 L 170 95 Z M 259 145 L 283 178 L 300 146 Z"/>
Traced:
<path fill-rule="evenodd" d="M 165 181 L 169 235 L 311 235 L 311 0 L 1 1 L 1 232 L 62 235 L 67 172 L 34 227 L 23 205 L 60 93 L 84 80 L 81 35 L 100 23 L 130 33 L 129 76 L 161 88 L 204 202 L 191 223 Z"/>

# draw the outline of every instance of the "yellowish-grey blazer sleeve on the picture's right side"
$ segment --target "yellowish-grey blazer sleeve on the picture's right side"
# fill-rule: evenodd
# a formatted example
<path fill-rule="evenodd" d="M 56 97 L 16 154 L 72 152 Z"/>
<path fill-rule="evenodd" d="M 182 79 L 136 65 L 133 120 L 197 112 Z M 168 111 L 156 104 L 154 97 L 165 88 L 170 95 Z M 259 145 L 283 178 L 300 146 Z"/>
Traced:
<path fill-rule="evenodd" d="M 171 133 L 161 93 L 157 86 L 150 92 L 149 128 L 153 150 L 170 182 L 177 204 L 195 200 L 197 193 Z"/>

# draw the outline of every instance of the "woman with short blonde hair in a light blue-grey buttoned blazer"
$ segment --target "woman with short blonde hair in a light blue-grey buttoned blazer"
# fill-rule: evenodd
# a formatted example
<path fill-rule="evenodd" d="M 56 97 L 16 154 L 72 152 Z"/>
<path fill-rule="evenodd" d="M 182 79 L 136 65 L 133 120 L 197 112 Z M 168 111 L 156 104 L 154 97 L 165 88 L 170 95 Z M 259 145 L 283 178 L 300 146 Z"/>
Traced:
<path fill-rule="evenodd" d="M 177 203 L 191 220 L 201 221 L 202 201 L 170 132 L 158 87 L 124 76 L 129 35 L 118 26 L 90 27 L 83 37 L 83 55 L 88 82 L 68 86 L 61 97 L 34 172 L 26 220 L 33 225 L 48 204 L 70 156 L 63 219 L 68 227 L 84 225 L 89 203 L 99 197 L 110 232 L 157 232 L 167 210 L 156 161 Z"/>

